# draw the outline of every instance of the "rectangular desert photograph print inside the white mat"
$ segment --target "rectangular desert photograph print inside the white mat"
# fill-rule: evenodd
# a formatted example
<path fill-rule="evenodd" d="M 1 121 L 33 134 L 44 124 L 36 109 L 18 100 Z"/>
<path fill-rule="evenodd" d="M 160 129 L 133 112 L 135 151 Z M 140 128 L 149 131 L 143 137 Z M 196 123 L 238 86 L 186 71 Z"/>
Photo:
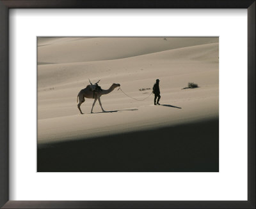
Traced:
<path fill-rule="evenodd" d="M 38 172 L 218 172 L 218 37 L 37 37 Z"/>

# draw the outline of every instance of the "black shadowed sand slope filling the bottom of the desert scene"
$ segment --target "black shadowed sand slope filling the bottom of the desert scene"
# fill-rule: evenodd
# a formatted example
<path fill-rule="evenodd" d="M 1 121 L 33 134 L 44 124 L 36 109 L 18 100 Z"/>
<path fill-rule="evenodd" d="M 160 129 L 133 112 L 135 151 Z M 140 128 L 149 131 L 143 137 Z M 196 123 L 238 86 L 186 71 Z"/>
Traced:
<path fill-rule="evenodd" d="M 218 172 L 218 119 L 38 147 L 38 171 Z"/>

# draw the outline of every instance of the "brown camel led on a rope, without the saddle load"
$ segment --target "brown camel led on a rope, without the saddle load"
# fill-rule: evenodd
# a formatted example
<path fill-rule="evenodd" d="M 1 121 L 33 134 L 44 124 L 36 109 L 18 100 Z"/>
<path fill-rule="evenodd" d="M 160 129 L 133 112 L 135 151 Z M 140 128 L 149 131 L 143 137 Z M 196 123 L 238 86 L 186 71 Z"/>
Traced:
<path fill-rule="evenodd" d="M 80 92 L 77 95 L 77 103 L 78 103 L 78 98 L 79 98 L 79 104 L 77 105 L 78 110 L 81 112 L 81 114 L 83 114 L 83 112 L 81 111 L 80 106 L 82 105 L 82 103 L 84 103 L 84 97 L 88 98 L 88 99 L 94 99 L 93 105 L 92 105 L 92 110 L 93 110 L 93 106 L 95 105 L 96 101 L 99 100 L 100 103 L 100 107 L 102 109 L 102 112 L 106 112 L 101 105 L 101 101 L 100 101 L 100 96 L 105 95 L 105 94 L 109 94 L 110 92 L 112 92 L 116 87 L 120 87 L 119 83 L 113 83 L 111 85 L 111 87 L 109 87 L 108 90 L 100 90 L 99 92 L 95 91 L 94 95 L 93 95 L 93 91 L 91 90 L 90 85 L 88 85 L 85 89 L 80 90 Z M 93 97 L 94 96 L 94 97 Z M 93 113 L 91 110 L 91 113 Z"/>

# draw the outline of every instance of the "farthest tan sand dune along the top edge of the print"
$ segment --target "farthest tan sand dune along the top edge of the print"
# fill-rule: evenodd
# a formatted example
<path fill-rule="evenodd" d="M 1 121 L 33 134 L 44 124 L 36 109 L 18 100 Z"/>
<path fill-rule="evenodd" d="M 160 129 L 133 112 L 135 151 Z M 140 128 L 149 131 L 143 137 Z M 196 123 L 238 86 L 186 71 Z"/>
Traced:
<path fill-rule="evenodd" d="M 40 38 L 38 62 L 122 59 L 206 43 L 218 43 L 218 38 Z"/>

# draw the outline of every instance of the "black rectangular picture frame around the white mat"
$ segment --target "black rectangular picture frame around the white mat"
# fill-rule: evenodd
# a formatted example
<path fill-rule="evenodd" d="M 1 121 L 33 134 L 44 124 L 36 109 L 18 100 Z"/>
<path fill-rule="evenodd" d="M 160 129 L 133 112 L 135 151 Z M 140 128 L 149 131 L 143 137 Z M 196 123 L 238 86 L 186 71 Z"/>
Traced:
<path fill-rule="evenodd" d="M 0 0 L 0 207 L 255 208 L 255 0 Z M 11 8 L 246 8 L 248 11 L 248 201 L 9 201 L 8 11 Z"/>

